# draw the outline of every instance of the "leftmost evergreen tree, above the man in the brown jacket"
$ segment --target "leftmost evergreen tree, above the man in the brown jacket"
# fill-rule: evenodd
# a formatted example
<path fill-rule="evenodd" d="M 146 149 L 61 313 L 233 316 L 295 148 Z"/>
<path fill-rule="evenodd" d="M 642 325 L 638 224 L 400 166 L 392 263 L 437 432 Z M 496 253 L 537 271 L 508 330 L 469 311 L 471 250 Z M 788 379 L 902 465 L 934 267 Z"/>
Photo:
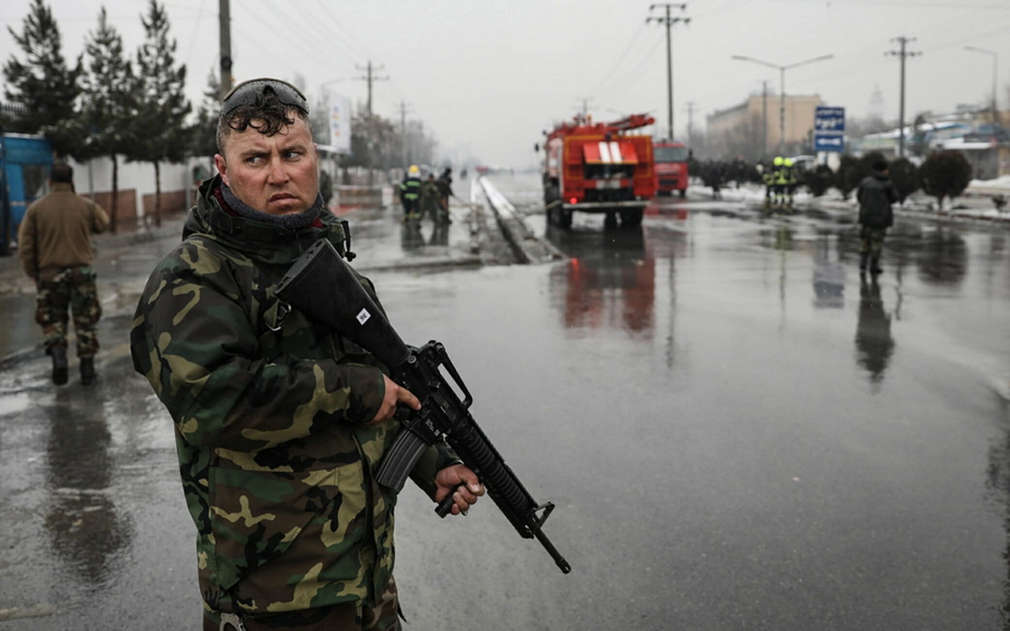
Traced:
<path fill-rule="evenodd" d="M 42 0 L 32 0 L 20 33 L 10 26 L 7 30 L 24 54 L 24 61 L 12 55 L 4 64 L 4 97 L 20 105 L 23 112 L 4 122 L 13 131 L 44 133 L 58 155 L 68 155 L 79 140 L 67 125 L 76 118 L 81 58 L 74 68 L 67 66 L 60 28 Z"/>

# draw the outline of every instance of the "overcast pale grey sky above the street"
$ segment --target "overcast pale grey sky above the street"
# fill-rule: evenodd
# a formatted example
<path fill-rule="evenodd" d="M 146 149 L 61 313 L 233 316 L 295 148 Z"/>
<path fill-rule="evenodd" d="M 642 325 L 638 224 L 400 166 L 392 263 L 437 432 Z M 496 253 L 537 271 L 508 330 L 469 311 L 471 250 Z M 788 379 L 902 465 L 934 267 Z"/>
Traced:
<path fill-rule="evenodd" d="M 47 0 L 60 22 L 65 53 L 76 56 L 95 28 L 100 0 Z M 131 55 L 143 32 L 144 0 L 105 2 Z M 384 66 L 375 84 L 376 112 L 421 118 L 443 148 L 469 150 L 483 162 L 523 166 L 551 121 L 591 98 L 597 118 L 650 111 L 667 117 L 665 29 L 645 24 L 649 2 L 637 0 L 231 0 L 233 75 L 305 78 L 310 99 L 322 82 L 364 102 L 369 60 Z M 674 26 L 675 127 L 683 136 L 687 104 L 694 124 L 704 115 L 760 92 L 778 92 L 779 72 L 732 55 L 789 65 L 822 55 L 834 59 L 786 73 L 787 94 L 819 94 L 827 104 L 864 116 L 875 86 L 885 117 L 898 116 L 897 58 L 891 38 L 917 37 L 908 61 L 906 117 L 983 103 L 992 92 L 998 54 L 1000 106 L 1010 84 L 1010 0 L 695 0 Z M 168 0 L 178 60 L 198 101 L 217 72 L 218 2 Z M 6 0 L 0 17 L 18 32 L 28 0 Z M 659 10 L 652 14 L 658 15 Z M 20 51 L 6 29 L 0 59 Z"/>

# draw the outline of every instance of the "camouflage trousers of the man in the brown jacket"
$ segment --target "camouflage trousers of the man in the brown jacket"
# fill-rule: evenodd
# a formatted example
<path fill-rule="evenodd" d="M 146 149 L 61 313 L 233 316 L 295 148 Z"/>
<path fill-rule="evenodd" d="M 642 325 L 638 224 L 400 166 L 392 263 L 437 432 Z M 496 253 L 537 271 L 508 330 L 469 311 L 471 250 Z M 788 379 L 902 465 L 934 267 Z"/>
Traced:
<path fill-rule="evenodd" d="M 95 272 L 90 265 L 65 267 L 38 277 L 35 297 L 35 322 L 42 328 L 45 349 L 67 348 L 67 321 L 74 314 L 77 333 L 77 356 L 91 357 L 98 352 L 98 320 L 102 305 L 95 287 Z"/>

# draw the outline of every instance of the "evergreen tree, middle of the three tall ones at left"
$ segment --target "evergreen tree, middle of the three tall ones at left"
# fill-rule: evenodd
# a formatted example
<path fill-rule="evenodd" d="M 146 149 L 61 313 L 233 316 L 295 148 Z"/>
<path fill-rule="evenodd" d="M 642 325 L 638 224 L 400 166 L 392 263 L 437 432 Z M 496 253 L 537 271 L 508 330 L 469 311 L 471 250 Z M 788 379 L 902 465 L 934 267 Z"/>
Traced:
<path fill-rule="evenodd" d="M 116 232 L 118 218 L 119 160 L 131 150 L 130 120 L 136 109 L 133 69 L 123 56 L 122 36 L 109 24 L 105 7 L 98 14 L 98 28 L 85 40 L 87 73 L 81 124 L 86 147 L 78 158 L 108 156 L 112 160 L 112 199 L 109 218 Z"/>

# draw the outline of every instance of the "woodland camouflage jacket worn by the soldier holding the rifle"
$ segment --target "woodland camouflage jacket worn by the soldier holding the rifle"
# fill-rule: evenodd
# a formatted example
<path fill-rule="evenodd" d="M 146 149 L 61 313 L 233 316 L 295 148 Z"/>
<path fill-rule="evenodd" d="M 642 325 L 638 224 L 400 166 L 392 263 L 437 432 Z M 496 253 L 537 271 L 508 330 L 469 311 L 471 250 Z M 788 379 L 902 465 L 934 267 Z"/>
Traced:
<path fill-rule="evenodd" d="M 399 425 L 364 425 L 386 369 L 298 310 L 278 326 L 274 297 L 314 241 L 342 253 L 343 230 L 326 212 L 297 233 L 234 215 L 219 185 L 201 186 L 130 332 L 133 366 L 175 421 L 204 602 L 239 614 L 371 602 L 393 571 L 396 495 L 373 470 Z M 412 472 L 431 497 L 449 456 L 429 448 Z"/>

